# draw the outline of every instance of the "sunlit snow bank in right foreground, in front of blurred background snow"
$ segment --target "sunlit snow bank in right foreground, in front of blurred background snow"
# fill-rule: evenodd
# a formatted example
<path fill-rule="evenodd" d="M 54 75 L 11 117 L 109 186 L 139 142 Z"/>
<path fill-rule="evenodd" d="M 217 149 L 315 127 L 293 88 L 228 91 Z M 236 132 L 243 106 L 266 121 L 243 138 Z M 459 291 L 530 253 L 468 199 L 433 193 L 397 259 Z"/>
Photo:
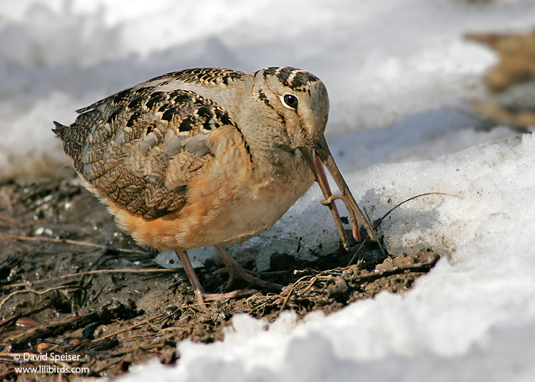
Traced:
<path fill-rule="evenodd" d="M 382 293 L 300 324 L 290 312 L 271 325 L 237 316 L 222 343 L 180 343 L 177 367 L 153 364 L 121 381 L 149 373 L 163 381 L 527 381 L 535 372 L 534 163 L 535 137 L 525 135 L 351 176 L 355 189 L 361 179 L 372 185 L 366 196 L 379 214 L 418 193 L 454 194 L 406 203 L 383 227 L 391 251 L 432 246 L 449 256 L 402 296 Z"/>

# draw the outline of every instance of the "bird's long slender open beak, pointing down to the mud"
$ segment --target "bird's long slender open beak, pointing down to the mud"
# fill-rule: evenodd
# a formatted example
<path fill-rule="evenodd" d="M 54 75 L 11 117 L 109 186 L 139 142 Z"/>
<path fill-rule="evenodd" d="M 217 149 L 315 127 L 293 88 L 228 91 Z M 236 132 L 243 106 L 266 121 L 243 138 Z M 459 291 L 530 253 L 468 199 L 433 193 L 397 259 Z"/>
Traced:
<path fill-rule="evenodd" d="M 344 228 L 342 227 L 340 214 L 338 213 L 335 205 L 336 199 L 342 199 L 342 201 L 345 203 L 347 211 L 350 213 L 352 233 L 355 240 L 360 241 L 359 226 L 357 222 L 357 218 L 359 218 L 359 220 L 362 222 L 362 225 L 365 226 L 370 239 L 372 239 L 372 241 L 377 241 L 372 226 L 367 221 L 362 211 L 360 211 L 359 206 L 357 206 L 355 198 L 353 198 L 349 187 L 345 183 L 344 178 L 342 178 L 342 174 L 340 174 L 340 170 L 335 163 L 335 159 L 332 158 L 332 154 L 329 150 L 329 146 L 327 146 L 325 136 L 321 134 L 319 144 L 313 147 L 303 148 L 301 149 L 301 152 L 310 166 L 310 169 L 312 169 L 312 173 L 314 173 L 316 181 L 320 185 L 320 189 L 322 189 L 323 196 L 325 197 L 325 200 L 322 201 L 322 204 L 329 206 L 332 217 L 335 218 L 336 228 L 338 229 L 338 233 L 340 233 L 340 238 L 342 238 L 342 244 L 346 251 L 349 250 L 349 243 L 347 242 L 347 236 Z M 325 175 L 325 169 L 323 169 L 324 165 L 327 167 L 327 170 L 329 170 L 332 179 L 335 179 L 335 182 L 340 189 L 340 193 L 336 193 L 334 195 L 332 194 L 329 183 L 327 182 L 327 176 Z"/>

